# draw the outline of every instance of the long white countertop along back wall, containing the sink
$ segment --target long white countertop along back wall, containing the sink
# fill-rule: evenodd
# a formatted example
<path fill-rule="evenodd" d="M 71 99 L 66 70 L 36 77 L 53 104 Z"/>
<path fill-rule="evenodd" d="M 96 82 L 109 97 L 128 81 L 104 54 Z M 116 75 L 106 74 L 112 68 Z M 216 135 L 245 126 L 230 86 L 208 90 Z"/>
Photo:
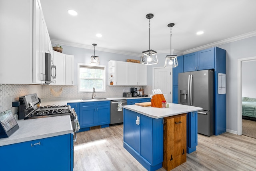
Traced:
<path fill-rule="evenodd" d="M 98 100 L 82 100 L 88 99 L 89 97 L 78 97 L 78 98 L 45 98 L 41 99 L 41 106 L 46 105 L 67 105 L 67 103 L 81 103 L 81 102 L 92 102 L 92 101 L 109 101 L 109 100 L 127 100 L 127 99 L 145 99 L 150 97 L 105 97 L 106 99 Z M 101 97 L 95 97 L 101 98 Z"/>

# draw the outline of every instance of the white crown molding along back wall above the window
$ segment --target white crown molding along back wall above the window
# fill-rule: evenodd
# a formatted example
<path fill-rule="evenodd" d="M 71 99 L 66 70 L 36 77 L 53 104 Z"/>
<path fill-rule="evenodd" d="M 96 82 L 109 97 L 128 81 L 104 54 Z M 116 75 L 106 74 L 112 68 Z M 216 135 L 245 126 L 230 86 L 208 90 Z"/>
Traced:
<path fill-rule="evenodd" d="M 71 43 L 71 42 L 65 42 L 62 40 L 56 40 L 56 39 L 51 39 L 52 44 L 62 44 L 66 46 L 72 46 L 76 48 L 84 48 L 84 49 L 90 49 L 94 50 L 94 46 L 88 46 L 88 45 L 83 45 L 83 44 L 76 44 L 76 43 Z M 128 56 L 135 56 L 135 57 L 140 57 L 142 54 L 136 54 L 132 52 L 124 52 L 124 51 L 119 51 L 119 50 L 111 50 L 111 49 L 106 49 L 106 48 L 100 48 L 97 47 L 98 51 L 102 52 L 109 52 L 109 53 L 114 53 L 114 54 L 122 54 L 122 55 L 128 55 Z"/>

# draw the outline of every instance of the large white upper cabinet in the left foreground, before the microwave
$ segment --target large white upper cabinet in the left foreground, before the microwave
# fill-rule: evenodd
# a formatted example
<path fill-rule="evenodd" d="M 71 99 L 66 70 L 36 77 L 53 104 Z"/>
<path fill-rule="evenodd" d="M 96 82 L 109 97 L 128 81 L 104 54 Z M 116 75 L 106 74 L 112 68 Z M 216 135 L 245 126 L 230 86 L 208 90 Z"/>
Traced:
<path fill-rule="evenodd" d="M 49 35 L 40 1 L 4 0 L 0 11 L 0 84 L 45 83 Z"/>

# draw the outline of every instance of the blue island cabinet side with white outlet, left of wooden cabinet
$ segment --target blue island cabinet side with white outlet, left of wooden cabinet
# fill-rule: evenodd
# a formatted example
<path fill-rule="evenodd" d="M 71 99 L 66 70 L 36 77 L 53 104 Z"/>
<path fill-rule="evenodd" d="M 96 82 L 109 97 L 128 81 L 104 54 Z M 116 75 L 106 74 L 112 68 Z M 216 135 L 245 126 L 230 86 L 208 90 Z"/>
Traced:
<path fill-rule="evenodd" d="M 163 162 L 163 119 L 154 119 L 124 109 L 124 148 L 147 170 Z"/>

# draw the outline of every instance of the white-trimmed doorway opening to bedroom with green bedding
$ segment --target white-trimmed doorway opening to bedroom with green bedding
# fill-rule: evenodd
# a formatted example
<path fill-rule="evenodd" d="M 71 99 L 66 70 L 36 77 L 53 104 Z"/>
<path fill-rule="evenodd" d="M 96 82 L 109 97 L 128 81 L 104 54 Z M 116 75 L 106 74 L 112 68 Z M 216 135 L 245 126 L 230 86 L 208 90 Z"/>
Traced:
<path fill-rule="evenodd" d="M 238 121 L 241 121 L 241 134 L 239 134 L 238 126 L 238 135 L 246 135 L 253 138 L 256 138 L 256 75 L 254 74 L 255 68 L 256 57 L 238 60 L 238 71 L 239 69 L 241 69 L 241 92 L 239 93 L 238 88 L 238 98 L 242 96 L 242 101 L 240 103 L 242 110 L 240 112 L 238 110 Z"/>

